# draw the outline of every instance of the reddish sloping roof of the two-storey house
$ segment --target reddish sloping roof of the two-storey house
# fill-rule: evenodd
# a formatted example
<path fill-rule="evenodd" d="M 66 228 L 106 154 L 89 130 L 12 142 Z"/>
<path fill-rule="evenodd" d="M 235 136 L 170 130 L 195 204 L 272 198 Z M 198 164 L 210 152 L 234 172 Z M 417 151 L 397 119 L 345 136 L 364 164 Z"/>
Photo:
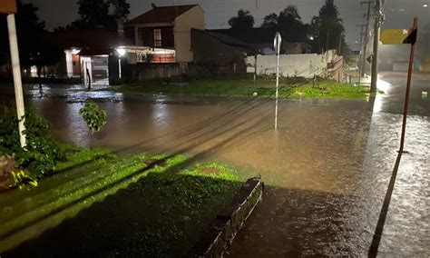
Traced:
<path fill-rule="evenodd" d="M 155 6 L 150 11 L 133 18 L 128 25 L 173 23 L 176 17 L 198 5 Z"/>

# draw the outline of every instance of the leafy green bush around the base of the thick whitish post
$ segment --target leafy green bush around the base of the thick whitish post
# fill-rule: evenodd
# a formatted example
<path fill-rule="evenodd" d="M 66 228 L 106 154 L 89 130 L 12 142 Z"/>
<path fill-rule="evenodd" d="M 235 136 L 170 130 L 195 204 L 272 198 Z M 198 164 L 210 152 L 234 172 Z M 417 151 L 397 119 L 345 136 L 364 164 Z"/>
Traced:
<path fill-rule="evenodd" d="M 0 155 L 15 154 L 18 165 L 39 178 L 54 170 L 57 161 L 65 159 L 60 144 L 50 136 L 51 125 L 33 108 L 25 111 L 25 138 L 27 145 L 21 148 L 18 119 L 14 107 L 0 107 Z"/>

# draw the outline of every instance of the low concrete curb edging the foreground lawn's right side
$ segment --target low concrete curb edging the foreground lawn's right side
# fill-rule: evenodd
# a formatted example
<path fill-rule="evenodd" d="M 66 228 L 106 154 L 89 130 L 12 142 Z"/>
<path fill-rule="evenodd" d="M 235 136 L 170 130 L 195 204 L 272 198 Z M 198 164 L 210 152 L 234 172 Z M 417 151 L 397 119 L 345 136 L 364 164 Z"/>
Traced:
<path fill-rule="evenodd" d="M 260 178 L 250 178 L 191 248 L 189 256 L 221 257 L 261 200 L 263 188 Z"/>

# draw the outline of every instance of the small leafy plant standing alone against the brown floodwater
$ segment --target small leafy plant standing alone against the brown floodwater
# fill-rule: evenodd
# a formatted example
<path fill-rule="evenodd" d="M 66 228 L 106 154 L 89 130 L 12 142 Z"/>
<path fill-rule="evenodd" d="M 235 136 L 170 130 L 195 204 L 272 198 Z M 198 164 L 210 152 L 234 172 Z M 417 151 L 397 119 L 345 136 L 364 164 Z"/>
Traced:
<path fill-rule="evenodd" d="M 82 115 L 92 134 L 102 130 L 103 125 L 106 124 L 106 112 L 95 103 L 83 105 L 79 114 Z"/>

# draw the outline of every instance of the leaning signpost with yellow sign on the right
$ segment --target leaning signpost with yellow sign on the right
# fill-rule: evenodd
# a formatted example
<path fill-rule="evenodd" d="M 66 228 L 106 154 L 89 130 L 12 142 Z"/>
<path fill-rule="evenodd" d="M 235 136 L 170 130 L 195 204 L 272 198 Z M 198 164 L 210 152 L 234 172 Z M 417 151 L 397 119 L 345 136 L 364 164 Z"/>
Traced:
<path fill-rule="evenodd" d="M 403 153 L 403 147 L 405 145 L 406 118 L 407 118 L 407 110 L 409 108 L 409 93 L 411 90 L 412 71 L 414 69 L 415 42 L 416 42 L 417 34 L 418 34 L 418 18 L 415 17 L 414 25 L 412 26 L 412 29 L 385 30 L 381 35 L 382 44 L 385 44 L 385 45 L 410 44 L 411 45 L 411 52 L 409 56 L 409 70 L 407 73 L 405 108 L 403 111 L 402 136 L 400 138 L 400 149 L 398 151 L 399 153 Z"/>

